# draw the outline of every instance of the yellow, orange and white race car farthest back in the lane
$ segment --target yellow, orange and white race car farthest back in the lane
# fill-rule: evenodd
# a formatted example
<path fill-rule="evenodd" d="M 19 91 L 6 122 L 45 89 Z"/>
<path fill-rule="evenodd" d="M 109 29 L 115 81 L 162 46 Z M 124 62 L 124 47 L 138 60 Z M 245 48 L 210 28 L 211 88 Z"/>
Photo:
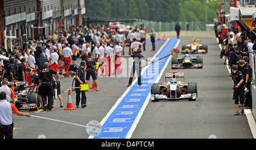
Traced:
<path fill-rule="evenodd" d="M 199 41 L 199 43 L 197 43 L 197 41 Z M 181 53 L 185 53 L 187 51 L 189 53 L 207 53 L 208 45 L 203 45 L 203 44 L 201 44 L 200 39 L 193 38 L 190 40 L 190 44 L 183 45 L 181 48 Z"/>

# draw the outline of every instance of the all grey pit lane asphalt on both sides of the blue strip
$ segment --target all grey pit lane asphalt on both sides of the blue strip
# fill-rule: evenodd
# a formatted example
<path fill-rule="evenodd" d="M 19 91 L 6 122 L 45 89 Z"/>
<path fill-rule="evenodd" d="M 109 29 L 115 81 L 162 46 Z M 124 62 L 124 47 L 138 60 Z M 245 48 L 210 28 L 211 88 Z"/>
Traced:
<path fill-rule="evenodd" d="M 190 38 L 181 37 L 179 49 L 187 44 Z M 234 116 L 236 111 L 232 100 L 232 81 L 223 59 L 219 58 L 220 49 L 214 38 L 202 38 L 202 43 L 208 44 L 208 53 L 204 58 L 203 69 L 179 69 L 184 72 L 185 81 L 196 81 L 199 97 L 197 101 L 159 101 L 149 102 L 137 128 L 131 138 L 253 138 L 245 115 Z M 162 44 L 156 44 L 159 49 Z M 145 57 L 152 57 L 156 51 L 150 51 L 151 44 L 147 44 Z M 126 53 L 127 55 L 127 47 Z M 80 60 L 76 62 L 79 64 Z M 170 72 L 169 62 L 165 72 Z M 129 70 L 130 71 L 130 70 Z M 72 77 L 61 79 L 61 95 L 64 108 L 67 106 L 67 95 L 63 93 L 72 84 Z M 109 112 L 114 103 L 127 89 L 129 78 L 98 78 L 100 90 L 86 92 L 87 107 L 76 110 L 63 110 L 57 106 L 51 112 L 30 112 L 33 115 L 63 120 L 86 126 L 90 120 L 98 120 Z M 164 81 L 164 74 L 159 82 Z M 90 80 L 92 84 L 92 80 Z M 90 85 L 91 86 L 91 85 Z M 75 107 L 75 91 L 71 93 L 73 107 Z M 40 118 L 27 118 L 14 115 L 14 138 L 35 139 L 39 135 L 46 138 L 88 138 L 84 127 L 55 122 Z"/>

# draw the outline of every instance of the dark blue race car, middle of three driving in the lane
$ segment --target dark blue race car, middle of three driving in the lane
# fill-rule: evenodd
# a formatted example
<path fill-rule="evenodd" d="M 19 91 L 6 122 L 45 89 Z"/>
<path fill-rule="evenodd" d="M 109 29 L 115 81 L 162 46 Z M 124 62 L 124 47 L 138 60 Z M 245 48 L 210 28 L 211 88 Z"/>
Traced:
<path fill-rule="evenodd" d="M 177 68 L 203 68 L 203 57 L 189 56 L 188 52 L 183 57 L 172 57 L 172 69 Z"/>

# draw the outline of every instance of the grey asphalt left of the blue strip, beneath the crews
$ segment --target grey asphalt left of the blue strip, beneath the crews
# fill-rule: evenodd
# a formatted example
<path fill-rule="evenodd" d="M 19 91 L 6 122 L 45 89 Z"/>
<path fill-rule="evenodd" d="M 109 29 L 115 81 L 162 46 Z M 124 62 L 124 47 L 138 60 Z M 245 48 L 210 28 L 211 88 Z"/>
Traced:
<path fill-rule="evenodd" d="M 142 52 L 145 57 L 152 57 L 157 50 L 163 45 L 163 43 L 156 44 L 156 51 L 151 51 L 152 45 L 146 45 L 146 52 Z M 128 47 L 125 47 L 125 55 L 128 55 Z M 76 64 L 80 64 L 81 59 L 76 61 Z M 127 69 L 127 68 L 122 68 Z M 130 72 L 130 68 L 127 69 Z M 61 75 L 60 75 L 61 76 Z M 63 77 L 63 76 L 62 76 Z M 117 99 L 127 89 L 128 77 L 101 77 L 98 78 L 99 91 L 90 90 L 86 91 L 87 107 L 84 109 L 76 110 L 64 110 L 67 106 L 68 87 L 72 86 L 73 78 L 62 78 L 61 81 L 61 95 L 63 97 L 64 107 L 60 108 L 59 100 L 54 100 L 54 105 L 57 107 L 51 112 L 41 111 L 22 111 L 28 112 L 32 115 L 43 116 L 46 118 L 61 120 L 69 123 L 76 123 L 86 126 L 90 120 L 101 120 L 106 116 Z M 92 86 L 92 78 L 90 78 L 90 86 Z M 76 108 L 76 93 L 71 92 L 73 107 Z M 73 124 L 55 122 L 53 120 L 41 119 L 25 116 L 14 115 L 14 138 L 15 139 L 36 139 L 40 135 L 44 135 L 47 139 L 86 139 L 89 135 L 86 132 L 85 127 L 75 126 Z M 42 136 L 40 136 L 42 137 Z"/>

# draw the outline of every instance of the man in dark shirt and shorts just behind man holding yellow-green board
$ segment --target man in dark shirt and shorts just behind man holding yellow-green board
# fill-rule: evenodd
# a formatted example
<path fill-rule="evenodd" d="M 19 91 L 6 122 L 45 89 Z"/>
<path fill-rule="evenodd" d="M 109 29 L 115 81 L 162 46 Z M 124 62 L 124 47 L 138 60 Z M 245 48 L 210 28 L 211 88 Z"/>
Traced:
<path fill-rule="evenodd" d="M 92 76 L 94 84 L 96 86 L 96 91 L 98 91 L 98 82 L 96 75 L 96 61 L 92 58 L 92 52 L 88 53 L 88 58 L 85 59 L 86 62 L 86 84 L 89 84 L 90 76 Z"/>

